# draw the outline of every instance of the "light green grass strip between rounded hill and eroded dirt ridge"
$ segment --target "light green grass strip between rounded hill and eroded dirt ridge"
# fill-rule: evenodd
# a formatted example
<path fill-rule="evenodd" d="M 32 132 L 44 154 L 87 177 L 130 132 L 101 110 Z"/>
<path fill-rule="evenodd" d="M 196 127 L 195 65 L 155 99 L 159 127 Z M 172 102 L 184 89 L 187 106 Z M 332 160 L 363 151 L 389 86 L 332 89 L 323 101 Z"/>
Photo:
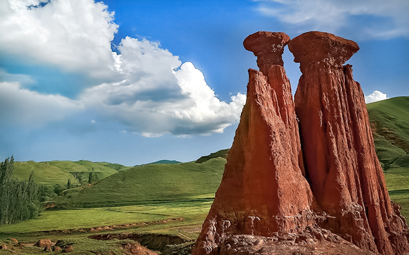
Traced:
<path fill-rule="evenodd" d="M 72 230 L 126 223 L 150 222 L 183 217 L 185 221 L 204 219 L 212 199 L 158 202 L 140 206 L 108 207 L 42 212 L 38 219 L 0 226 L 9 235 L 53 230 Z"/>

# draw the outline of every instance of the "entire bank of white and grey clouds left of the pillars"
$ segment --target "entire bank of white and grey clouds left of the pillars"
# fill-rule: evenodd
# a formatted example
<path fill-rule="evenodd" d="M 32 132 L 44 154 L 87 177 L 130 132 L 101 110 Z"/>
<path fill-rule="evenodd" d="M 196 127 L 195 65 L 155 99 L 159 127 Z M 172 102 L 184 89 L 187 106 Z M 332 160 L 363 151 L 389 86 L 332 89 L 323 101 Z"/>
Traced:
<path fill-rule="evenodd" d="M 67 98 L 21 88 L 29 77 L 3 71 L 3 81 L 20 83 L 0 83 L 0 119 L 39 126 L 92 112 L 93 125 L 113 120 L 148 137 L 206 135 L 238 121 L 245 95 L 220 101 L 200 70 L 157 42 L 126 37 L 112 52 L 117 29 L 113 13 L 93 0 L 2 1 L 0 51 L 103 82 Z"/>

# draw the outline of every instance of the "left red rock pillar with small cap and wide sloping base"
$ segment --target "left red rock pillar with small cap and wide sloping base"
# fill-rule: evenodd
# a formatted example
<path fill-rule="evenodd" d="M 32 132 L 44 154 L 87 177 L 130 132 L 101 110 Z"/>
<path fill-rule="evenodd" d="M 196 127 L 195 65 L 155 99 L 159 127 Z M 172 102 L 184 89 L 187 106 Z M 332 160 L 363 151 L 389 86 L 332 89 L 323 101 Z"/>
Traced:
<path fill-rule="evenodd" d="M 284 33 L 258 32 L 244 41 L 259 57 L 262 72 L 248 71 L 246 105 L 193 255 L 218 254 L 231 235 L 269 237 L 313 224 L 312 193 L 300 168 L 298 123 L 281 59 L 288 40 Z"/>

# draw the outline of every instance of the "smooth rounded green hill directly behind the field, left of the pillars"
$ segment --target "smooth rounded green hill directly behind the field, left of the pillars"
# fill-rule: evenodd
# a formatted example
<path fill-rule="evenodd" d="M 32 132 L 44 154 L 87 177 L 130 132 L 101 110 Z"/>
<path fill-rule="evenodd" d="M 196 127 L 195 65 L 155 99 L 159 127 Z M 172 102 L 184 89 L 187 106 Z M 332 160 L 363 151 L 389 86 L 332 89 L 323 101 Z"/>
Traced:
<path fill-rule="evenodd" d="M 214 158 L 201 164 L 135 166 L 95 185 L 67 190 L 53 202 L 57 208 L 93 208 L 213 197 L 225 163 Z"/>

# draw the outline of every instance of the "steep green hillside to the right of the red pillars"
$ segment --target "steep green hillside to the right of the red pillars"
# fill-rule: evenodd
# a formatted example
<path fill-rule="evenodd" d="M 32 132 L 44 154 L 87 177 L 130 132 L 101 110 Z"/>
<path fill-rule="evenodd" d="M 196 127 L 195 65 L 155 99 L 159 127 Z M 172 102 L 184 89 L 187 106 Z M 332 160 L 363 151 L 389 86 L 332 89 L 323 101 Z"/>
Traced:
<path fill-rule="evenodd" d="M 409 217 L 409 97 L 367 105 L 376 154 L 384 169 L 391 199 Z"/>

